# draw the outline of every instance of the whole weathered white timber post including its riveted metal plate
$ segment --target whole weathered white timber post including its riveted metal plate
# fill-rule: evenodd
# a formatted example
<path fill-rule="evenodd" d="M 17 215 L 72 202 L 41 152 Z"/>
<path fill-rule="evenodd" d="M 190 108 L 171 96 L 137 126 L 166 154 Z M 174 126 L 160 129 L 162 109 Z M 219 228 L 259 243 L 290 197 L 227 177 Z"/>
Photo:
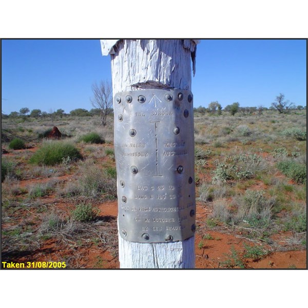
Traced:
<path fill-rule="evenodd" d="M 195 267 L 195 40 L 101 40 L 111 54 L 121 268 Z"/>

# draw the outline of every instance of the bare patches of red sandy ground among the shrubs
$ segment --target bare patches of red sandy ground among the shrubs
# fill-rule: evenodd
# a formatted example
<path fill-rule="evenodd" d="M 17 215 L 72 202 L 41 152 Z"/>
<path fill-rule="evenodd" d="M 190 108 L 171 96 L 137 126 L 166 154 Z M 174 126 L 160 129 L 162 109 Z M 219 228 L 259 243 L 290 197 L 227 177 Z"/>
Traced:
<path fill-rule="evenodd" d="M 28 150 L 33 151 L 34 149 Z M 9 156 L 10 153 L 7 155 Z M 69 181 L 70 176 L 61 176 L 53 179 Z M 20 186 L 26 187 L 34 183 L 48 180 L 50 180 L 50 178 L 21 181 Z M 256 184 L 256 189 L 260 189 L 258 185 L 259 184 Z M 46 204 L 52 204 L 52 206 L 64 211 L 64 213 L 69 213 L 73 209 L 72 204 L 62 203 L 61 200 L 57 200 L 55 196 L 45 197 L 41 201 Z M 113 226 L 116 226 L 118 215 L 117 201 L 102 203 L 99 205 L 99 210 L 100 217 L 112 218 Z M 197 202 L 197 221 L 205 221 L 209 212 L 210 211 L 207 210 L 205 205 Z M 30 214 L 31 216 L 29 216 Z M 16 219 L 15 223 L 23 219 L 31 220 L 33 217 L 35 218 L 35 215 L 35 213 L 31 213 L 31 211 L 27 209 L 21 209 L 18 211 L 17 217 L 14 217 L 14 219 Z M 37 220 L 37 227 L 39 223 L 40 221 Z M 2 228 L 11 225 L 13 225 L 13 223 L 3 223 Z M 210 235 L 213 239 L 202 239 L 205 234 Z M 273 238 L 276 237 L 276 240 L 281 240 L 281 244 L 283 245 L 284 236 L 287 236 L 287 234 L 275 235 Z M 200 245 L 200 242 L 202 242 L 203 245 Z M 202 234 L 200 231 L 197 231 L 195 237 L 196 268 L 222 268 L 222 262 L 228 258 L 231 249 L 235 248 L 237 252 L 243 252 L 244 243 L 256 245 L 241 237 L 223 232 L 206 230 L 206 232 Z M 95 244 L 68 246 L 63 241 L 54 238 L 43 241 L 40 243 L 40 248 L 34 251 L 13 256 L 11 260 L 13 259 L 14 262 L 59 261 L 72 254 L 74 258 L 70 262 L 70 268 L 120 268 L 119 256 L 114 256 L 114 254 L 111 255 L 108 249 L 98 247 Z M 2 261 L 6 260 L 3 258 Z M 245 268 L 306 268 L 306 250 L 275 252 L 258 261 L 245 259 Z"/>

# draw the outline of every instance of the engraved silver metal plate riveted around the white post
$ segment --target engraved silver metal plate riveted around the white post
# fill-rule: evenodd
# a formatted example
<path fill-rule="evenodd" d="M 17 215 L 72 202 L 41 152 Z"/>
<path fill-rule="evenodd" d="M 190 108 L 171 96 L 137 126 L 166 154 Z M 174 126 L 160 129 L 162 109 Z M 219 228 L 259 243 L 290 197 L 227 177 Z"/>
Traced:
<path fill-rule="evenodd" d="M 191 92 L 120 92 L 113 106 L 120 235 L 140 243 L 183 241 L 193 236 Z"/>

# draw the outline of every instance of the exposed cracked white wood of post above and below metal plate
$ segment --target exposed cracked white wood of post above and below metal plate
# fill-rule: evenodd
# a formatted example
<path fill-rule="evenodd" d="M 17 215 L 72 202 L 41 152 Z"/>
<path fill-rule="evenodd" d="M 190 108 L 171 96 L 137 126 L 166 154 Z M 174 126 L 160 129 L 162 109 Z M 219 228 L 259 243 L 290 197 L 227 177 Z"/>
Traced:
<path fill-rule="evenodd" d="M 196 40 L 101 40 L 103 55 L 111 54 L 113 97 L 133 90 L 191 90 L 190 61 L 195 72 L 196 44 Z M 119 233 L 119 259 L 121 268 L 194 268 L 195 237 L 140 243 Z"/>

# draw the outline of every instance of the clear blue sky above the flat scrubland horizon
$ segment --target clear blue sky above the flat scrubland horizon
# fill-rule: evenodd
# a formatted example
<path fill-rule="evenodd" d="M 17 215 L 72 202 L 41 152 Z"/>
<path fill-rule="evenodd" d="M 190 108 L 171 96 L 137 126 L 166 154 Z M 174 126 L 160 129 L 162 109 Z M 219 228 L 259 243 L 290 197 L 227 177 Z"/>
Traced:
<path fill-rule="evenodd" d="M 91 85 L 111 81 L 99 40 L 2 40 L 2 111 L 92 108 Z M 194 105 L 270 107 L 279 93 L 306 105 L 306 40 L 201 40 Z"/>

